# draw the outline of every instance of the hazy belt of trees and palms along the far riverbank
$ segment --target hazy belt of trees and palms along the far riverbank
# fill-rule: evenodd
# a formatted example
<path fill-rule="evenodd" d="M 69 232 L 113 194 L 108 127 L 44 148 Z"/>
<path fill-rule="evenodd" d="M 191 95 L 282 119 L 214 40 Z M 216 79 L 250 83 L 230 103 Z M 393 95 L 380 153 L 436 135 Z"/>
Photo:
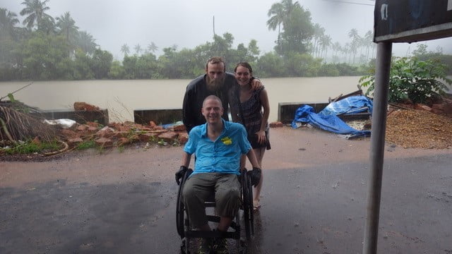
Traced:
<path fill-rule="evenodd" d="M 234 47 L 234 36 L 226 32 L 194 49 L 163 47 L 160 55 L 153 42 L 144 48 L 123 44 L 121 60 L 79 30 L 69 12 L 49 16 L 49 0 L 22 4 L 24 27 L 18 27 L 16 13 L 0 8 L 0 80 L 189 79 L 204 73 L 211 56 L 224 57 L 227 71 L 239 61 L 249 61 L 254 75 L 261 78 L 364 75 L 374 61 L 371 31 L 361 37 L 352 29 L 350 43 L 333 43 L 321 25 L 312 23 L 311 13 L 292 0 L 273 4 L 267 13 L 268 29 L 278 29 L 273 52 L 261 54 L 256 40 Z M 435 57 L 452 66 L 452 56 L 427 52 L 426 47 L 414 53 L 422 60 Z"/>

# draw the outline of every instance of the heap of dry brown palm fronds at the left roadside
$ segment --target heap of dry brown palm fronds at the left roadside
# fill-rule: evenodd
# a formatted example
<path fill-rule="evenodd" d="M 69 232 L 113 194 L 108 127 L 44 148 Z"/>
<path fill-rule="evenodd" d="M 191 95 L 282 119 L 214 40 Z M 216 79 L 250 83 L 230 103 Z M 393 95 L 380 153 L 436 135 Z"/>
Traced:
<path fill-rule="evenodd" d="M 49 126 L 35 116 L 24 114 L 10 107 L 0 106 L 0 139 L 16 143 L 39 137 L 52 141 L 58 137 L 57 129 Z"/>

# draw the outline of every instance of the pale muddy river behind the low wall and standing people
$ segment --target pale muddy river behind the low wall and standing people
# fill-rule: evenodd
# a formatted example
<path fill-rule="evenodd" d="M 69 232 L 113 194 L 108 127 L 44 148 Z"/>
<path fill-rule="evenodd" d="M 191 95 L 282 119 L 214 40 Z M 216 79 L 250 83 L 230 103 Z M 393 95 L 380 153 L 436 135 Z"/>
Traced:
<path fill-rule="evenodd" d="M 278 119 L 280 102 L 328 102 L 357 90 L 359 76 L 321 78 L 263 78 L 270 99 L 270 119 Z M 135 109 L 180 109 L 190 80 L 35 81 L 14 94 L 40 109 L 72 109 L 87 102 L 108 109 L 109 121 L 133 121 Z M 0 97 L 30 82 L 0 82 Z"/>

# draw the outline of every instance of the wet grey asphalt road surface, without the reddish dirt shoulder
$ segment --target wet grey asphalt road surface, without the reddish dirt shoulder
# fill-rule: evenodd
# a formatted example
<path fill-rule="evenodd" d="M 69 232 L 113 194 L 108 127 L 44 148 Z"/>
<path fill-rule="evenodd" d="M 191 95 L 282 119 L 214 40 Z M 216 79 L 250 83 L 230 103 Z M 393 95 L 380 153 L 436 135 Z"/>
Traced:
<path fill-rule="evenodd" d="M 452 253 L 451 162 L 385 160 L 379 253 Z M 368 167 L 267 170 L 249 253 L 361 253 Z M 177 186 L 157 180 L 1 185 L 0 253 L 179 253 Z"/>

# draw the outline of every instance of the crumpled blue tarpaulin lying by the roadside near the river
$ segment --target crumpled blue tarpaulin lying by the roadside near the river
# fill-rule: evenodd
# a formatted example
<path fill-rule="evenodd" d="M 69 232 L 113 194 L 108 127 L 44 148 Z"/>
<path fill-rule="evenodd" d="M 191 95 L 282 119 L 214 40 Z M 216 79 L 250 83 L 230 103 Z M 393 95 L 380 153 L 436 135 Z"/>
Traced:
<path fill-rule="evenodd" d="M 343 101 L 343 99 L 341 99 L 340 101 Z M 363 102 L 362 100 L 359 101 L 360 101 L 359 104 Z M 372 106 L 371 101 L 369 100 L 369 102 L 365 102 L 367 103 L 367 106 L 365 107 L 370 107 L 371 109 Z M 340 114 L 344 114 L 347 113 L 347 111 L 344 111 L 343 108 L 349 107 L 347 106 L 347 103 L 344 104 L 345 105 L 344 107 L 331 107 L 331 108 L 334 110 L 339 109 L 338 112 L 341 112 Z M 353 106 L 351 108 L 353 111 L 355 111 L 355 109 L 359 107 Z M 325 131 L 331 131 L 333 133 L 338 133 L 342 135 L 350 135 L 353 137 L 360 135 L 366 136 L 370 135 L 370 131 L 358 131 L 355 128 L 348 126 L 347 123 L 345 123 L 338 116 L 336 116 L 336 113 L 331 114 L 331 111 L 328 111 L 327 114 L 326 113 L 321 114 L 321 112 L 319 114 L 316 114 L 314 112 L 314 109 L 309 105 L 303 105 L 302 107 L 299 107 L 297 111 L 295 111 L 295 117 L 294 120 L 292 121 L 292 128 L 297 128 L 297 122 L 309 123 L 311 124 L 311 126 L 316 126 L 317 128 L 321 128 L 322 130 Z"/>

